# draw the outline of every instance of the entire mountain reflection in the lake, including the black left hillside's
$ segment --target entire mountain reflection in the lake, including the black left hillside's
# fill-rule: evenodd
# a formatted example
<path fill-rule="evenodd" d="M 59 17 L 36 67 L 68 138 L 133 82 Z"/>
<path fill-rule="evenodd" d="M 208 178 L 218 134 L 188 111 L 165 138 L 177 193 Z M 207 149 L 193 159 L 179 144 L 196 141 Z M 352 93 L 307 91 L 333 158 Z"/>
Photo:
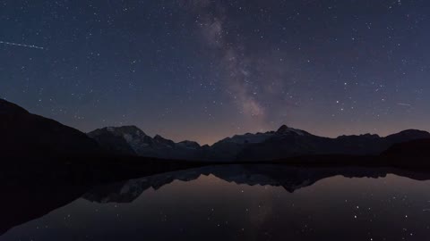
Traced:
<path fill-rule="evenodd" d="M 282 165 L 217 165 L 184 170 L 185 166 L 152 163 L 141 170 L 116 163 L 105 165 L 58 164 L 2 166 L 0 188 L 0 234 L 37 219 L 73 200 L 84 197 L 99 203 L 130 203 L 148 188 L 158 189 L 175 180 L 192 181 L 201 175 L 240 185 L 283 187 L 288 192 L 329 177 L 379 178 L 389 173 L 410 179 L 430 179 L 430 173 L 384 168 L 294 168 Z M 107 168 L 108 167 L 108 168 Z M 115 175 L 113 175 L 115 173 Z M 142 177 L 142 178 L 139 178 Z M 136 179 L 139 178 L 139 179 Z M 125 180 L 129 179 L 129 180 Z M 124 181 L 125 180 L 125 181 Z"/>

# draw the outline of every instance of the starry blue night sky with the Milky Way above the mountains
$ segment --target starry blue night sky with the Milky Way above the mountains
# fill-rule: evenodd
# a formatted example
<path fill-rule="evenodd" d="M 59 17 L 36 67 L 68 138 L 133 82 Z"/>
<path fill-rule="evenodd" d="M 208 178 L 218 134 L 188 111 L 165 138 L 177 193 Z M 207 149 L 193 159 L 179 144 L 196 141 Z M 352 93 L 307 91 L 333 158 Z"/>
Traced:
<path fill-rule="evenodd" d="M 0 97 L 82 131 L 430 130 L 427 0 L 3 0 L 0 29 Z"/>

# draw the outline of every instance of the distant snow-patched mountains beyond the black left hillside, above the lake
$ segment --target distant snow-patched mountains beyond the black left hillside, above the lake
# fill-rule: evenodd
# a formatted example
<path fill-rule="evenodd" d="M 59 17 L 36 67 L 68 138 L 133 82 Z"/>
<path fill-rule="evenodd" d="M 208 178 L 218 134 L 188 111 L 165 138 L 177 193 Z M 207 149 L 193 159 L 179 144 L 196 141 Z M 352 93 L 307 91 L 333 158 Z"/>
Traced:
<path fill-rule="evenodd" d="M 159 135 L 150 137 L 135 126 L 96 129 L 88 136 L 116 154 L 212 162 L 274 161 L 304 155 L 379 155 L 391 145 L 430 139 L 430 133 L 416 129 L 387 137 L 370 134 L 318 137 L 285 125 L 276 131 L 227 137 L 211 146 L 201 146 L 193 141 L 175 143 Z"/>

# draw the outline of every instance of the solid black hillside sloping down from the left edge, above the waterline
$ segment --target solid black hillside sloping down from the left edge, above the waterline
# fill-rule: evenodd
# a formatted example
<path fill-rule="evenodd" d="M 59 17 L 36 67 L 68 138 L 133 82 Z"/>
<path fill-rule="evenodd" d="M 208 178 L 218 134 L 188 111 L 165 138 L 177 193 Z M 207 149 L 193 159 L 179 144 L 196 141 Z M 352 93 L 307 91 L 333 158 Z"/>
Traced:
<path fill-rule="evenodd" d="M 0 99 L 0 156 L 99 154 L 99 145 L 81 131 L 31 114 Z"/>

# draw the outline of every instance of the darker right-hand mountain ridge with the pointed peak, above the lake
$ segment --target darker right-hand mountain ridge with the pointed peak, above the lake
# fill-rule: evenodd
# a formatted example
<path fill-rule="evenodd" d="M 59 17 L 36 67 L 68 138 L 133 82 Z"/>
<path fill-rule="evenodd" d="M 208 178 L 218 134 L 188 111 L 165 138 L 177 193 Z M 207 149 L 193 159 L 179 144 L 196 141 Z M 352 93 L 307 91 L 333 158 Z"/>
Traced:
<path fill-rule="evenodd" d="M 318 137 L 307 132 L 274 132 L 260 143 L 246 144 L 237 155 L 238 160 L 268 161 L 302 155 L 379 155 L 391 145 L 410 140 L 430 138 L 430 133 L 409 129 L 388 137 L 378 135 Z"/>

